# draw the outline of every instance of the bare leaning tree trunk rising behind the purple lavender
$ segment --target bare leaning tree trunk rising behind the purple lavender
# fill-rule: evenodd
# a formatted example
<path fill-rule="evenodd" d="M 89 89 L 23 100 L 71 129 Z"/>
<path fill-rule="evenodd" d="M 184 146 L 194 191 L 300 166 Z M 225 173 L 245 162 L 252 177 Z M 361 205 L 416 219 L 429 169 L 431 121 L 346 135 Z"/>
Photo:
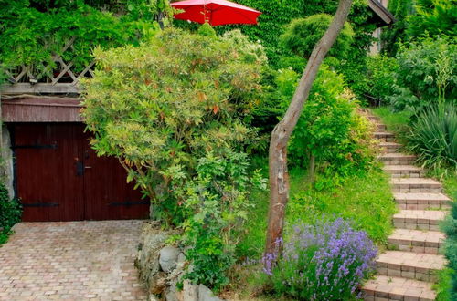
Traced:
<path fill-rule="evenodd" d="M 314 47 L 311 57 L 303 71 L 303 76 L 295 90 L 291 104 L 284 118 L 271 132 L 269 150 L 270 169 L 270 209 L 268 213 L 267 244 L 265 254 L 282 252 L 282 229 L 284 213 L 289 201 L 289 173 L 287 171 L 287 144 L 297 124 L 303 105 L 308 99 L 314 78 L 328 50 L 335 43 L 341 29 L 345 25 L 352 0 L 340 0 L 332 23 L 324 36 Z"/>

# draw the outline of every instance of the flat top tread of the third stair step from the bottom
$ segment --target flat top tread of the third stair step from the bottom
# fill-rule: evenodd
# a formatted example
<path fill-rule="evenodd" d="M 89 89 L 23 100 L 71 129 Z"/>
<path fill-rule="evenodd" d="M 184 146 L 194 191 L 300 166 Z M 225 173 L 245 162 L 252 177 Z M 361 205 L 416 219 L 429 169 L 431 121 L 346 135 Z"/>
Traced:
<path fill-rule="evenodd" d="M 390 244 L 412 244 L 418 246 L 439 246 L 446 239 L 446 234 L 438 231 L 420 231 L 409 229 L 395 229 L 388 236 Z"/>

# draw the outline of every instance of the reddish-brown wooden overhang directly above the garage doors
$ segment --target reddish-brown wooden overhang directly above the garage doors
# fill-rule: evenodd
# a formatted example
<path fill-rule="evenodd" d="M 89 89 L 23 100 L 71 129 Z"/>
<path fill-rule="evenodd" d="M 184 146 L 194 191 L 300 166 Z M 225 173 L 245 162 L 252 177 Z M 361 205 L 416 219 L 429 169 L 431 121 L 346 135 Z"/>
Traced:
<path fill-rule="evenodd" d="M 2 99 L 4 122 L 82 122 L 80 99 L 24 97 Z"/>

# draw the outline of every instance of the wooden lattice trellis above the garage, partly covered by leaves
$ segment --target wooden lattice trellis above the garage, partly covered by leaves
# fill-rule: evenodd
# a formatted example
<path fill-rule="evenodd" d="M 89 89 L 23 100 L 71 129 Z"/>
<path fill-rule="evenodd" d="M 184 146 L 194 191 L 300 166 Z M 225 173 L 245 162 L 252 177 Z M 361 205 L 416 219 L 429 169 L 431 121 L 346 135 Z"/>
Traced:
<path fill-rule="evenodd" d="M 61 53 L 73 51 L 74 41 L 75 38 L 71 38 L 62 47 Z M 9 84 L 2 87 L 0 91 L 3 94 L 78 93 L 79 79 L 93 77 L 94 61 L 77 72 L 72 61 L 65 62 L 58 55 L 54 55 L 51 59 L 55 67 L 42 63 L 39 67 L 20 66 L 6 70 Z"/>

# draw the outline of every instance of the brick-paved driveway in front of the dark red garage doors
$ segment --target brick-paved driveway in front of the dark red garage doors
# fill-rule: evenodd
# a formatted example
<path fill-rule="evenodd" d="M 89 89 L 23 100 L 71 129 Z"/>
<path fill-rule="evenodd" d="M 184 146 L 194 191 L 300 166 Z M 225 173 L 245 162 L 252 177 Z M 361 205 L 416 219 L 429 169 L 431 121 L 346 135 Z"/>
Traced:
<path fill-rule="evenodd" d="M 0 300 L 145 300 L 141 221 L 19 223 L 0 246 Z"/>

